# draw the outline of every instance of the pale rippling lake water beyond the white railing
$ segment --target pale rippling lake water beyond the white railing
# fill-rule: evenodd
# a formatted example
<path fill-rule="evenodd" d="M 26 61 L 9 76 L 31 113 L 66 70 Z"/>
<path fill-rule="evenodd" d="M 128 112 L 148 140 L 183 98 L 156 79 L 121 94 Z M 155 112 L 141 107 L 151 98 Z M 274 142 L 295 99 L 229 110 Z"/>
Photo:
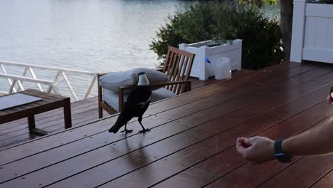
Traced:
<path fill-rule="evenodd" d="M 157 55 L 149 50 L 152 38 L 166 16 L 174 14 L 176 6 L 181 8 L 189 3 L 3 0 L 0 1 L 0 61 L 93 72 L 155 68 Z M 7 71 L 23 73 L 19 68 L 8 67 Z M 55 76 L 43 71 L 36 74 L 38 78 Z M 89 84 L 85 79 L 78 80 L 78 84 L 73 83 L 75 90 Z M 0 91 L 4 90 L 8 90 L 8 83 L 0 78 Z"/>

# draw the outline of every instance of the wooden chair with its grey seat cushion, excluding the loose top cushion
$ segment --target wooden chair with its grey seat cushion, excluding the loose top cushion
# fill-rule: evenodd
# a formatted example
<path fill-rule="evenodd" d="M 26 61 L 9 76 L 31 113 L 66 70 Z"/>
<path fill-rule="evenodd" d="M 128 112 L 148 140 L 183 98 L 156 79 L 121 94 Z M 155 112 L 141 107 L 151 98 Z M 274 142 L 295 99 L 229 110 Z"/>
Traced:
<path fill-rule="evenodd" d="M 169 81 L 164 83 L 151 84 L 152 87 L 162 87 L 160 89 L 153 90 L 152 102 L 162 100 L 164 98 L 169 98 L 171 96 L 191 90 L 191 81 L 189 81 L 189 75 L 191 73 L 193 61 L 193 53 L 182 51 L 178 48 L 169 46 L 166 61 L 164 62 L 164 68 L 158 70 L 162 71 L 162 73 L 165 73 Z M 106 90 L 100 85 L 100 77 L 105 74 L 107 73 L 97 74 L 99 118 L 102 118 L 103 109 L 110 114 L 121 112 L 124 104 L 124 98 L 127 98 L 125 90 L 130 90 L 135 87 L 135 85 L 122 85 L 119 87 L 117 93 L 112 93 L 112 91 Z M 115 95 L 117 95 L 117 98 L 115 98 Z"/>

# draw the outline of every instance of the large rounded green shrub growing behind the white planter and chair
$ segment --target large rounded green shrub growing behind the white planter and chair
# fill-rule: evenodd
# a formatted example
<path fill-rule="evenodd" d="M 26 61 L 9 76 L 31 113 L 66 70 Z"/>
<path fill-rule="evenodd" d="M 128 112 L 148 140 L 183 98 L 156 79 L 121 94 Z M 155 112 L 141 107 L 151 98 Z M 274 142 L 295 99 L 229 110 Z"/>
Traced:
<path fill-rule="evenodd" d="M 282 36 L 278 22 L 266 19 L 253 6 L 198 2 L 177 11 L 167 21 L 150 45 L 159 59 L 165 58 L 167 46 L 240 38 L 243 39 L 243 68 L 264 68 L 282 61 Z"/>

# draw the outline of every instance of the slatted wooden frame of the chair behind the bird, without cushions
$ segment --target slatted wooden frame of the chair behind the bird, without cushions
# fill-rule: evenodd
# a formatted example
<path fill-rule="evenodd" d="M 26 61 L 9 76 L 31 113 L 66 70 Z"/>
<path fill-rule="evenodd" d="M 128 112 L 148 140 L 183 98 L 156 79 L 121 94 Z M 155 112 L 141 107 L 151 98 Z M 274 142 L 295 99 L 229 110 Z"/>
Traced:
<path fill-rule="evenodd" d="M 165 83 L 151 84 L 152 87 L 163 87 L 164 90 L 169 90 L 174 95 L 179 95 L 180 93 L 185 93 L 191 90 L 191 81 L 189 81 L 189 75 L 191 73 L 192 64 L 194 61 L 194 54 L 186 51 L 182 51 L 178 48 L 169 46 L 168 53 L 166 55 L 166 61 L 164 62 L 164 68 L 157 70 L 165 73 L 169 81 Z M 100 86 L 100 76 L 106 73 L 98 73 L 98 117 L 102 118 L 102 110 L 104 109 L 107 113 L 115 114 L 117 113 L 112 106 L 108 105 L 103 98 L 103 90 Z M 124 104 L 124 92 L 125 90 L 130 90 L 136 85 L 124 85 L 120 86 L 118 92 L 118 103 L 119 112 L 122 111 Z M 152 93 L 154 98 L 154 91 Z M 161 100 L 161 99 L 160 99 Z M 152 101 L 154 102 L 154 101 Z"/>

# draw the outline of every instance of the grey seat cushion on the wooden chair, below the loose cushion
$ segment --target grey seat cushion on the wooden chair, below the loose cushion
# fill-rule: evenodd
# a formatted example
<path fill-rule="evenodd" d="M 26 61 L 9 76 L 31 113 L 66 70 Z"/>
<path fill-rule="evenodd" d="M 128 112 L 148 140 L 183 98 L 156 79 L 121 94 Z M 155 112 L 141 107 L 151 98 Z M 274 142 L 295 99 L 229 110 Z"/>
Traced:
<path fill-rule="evenodd" d="M 124 103 L 125 103 L 128 95 L 129 95 L 128 93 L 124 94 Z M 170 90 L 167 90 L 166 88 L 159 88 L 158 90 L 152 91 L 152 100 L 150 103 L 156 102 L 158 100 L 162 100 L 164 98 L 171 98 L 174 95 L 176 95 L 176 94 L 171 92 Z M 103 100 L 105 101 L 105 103 L 110 105 L 114 110 L 119 112 L 118 92 L 103 89 Z"/>

